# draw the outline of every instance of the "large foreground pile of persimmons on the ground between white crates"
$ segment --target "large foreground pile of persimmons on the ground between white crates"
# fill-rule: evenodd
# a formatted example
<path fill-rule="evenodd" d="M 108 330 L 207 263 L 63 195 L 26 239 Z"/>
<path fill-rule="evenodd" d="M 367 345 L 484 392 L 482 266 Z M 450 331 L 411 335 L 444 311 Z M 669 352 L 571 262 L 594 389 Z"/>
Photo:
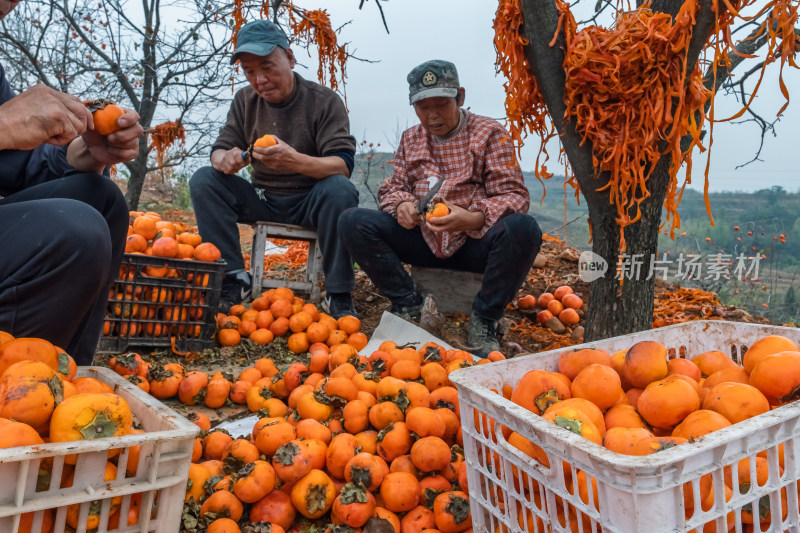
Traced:
<path fill-rule="evenodd" d="M 308 364 L 278 369 L 265 358 L 239 375 L 237 384 L 250 384 L 241 387 L 245 402 L 261 416 L 251 434 L 237 438 L 193 417 L 204 433 L 184 515 L 208 531 L 220 517 L 229 519 L 224 531 L 264 523 L 288 531 L 301 517 L 356 531 L 369 520 L 396 533 L 470 530 L 458 394 L 448 376 L 474 364 L 472 356 L 389 341 L 369 356 L 346 342 L 309 350 Z"/>

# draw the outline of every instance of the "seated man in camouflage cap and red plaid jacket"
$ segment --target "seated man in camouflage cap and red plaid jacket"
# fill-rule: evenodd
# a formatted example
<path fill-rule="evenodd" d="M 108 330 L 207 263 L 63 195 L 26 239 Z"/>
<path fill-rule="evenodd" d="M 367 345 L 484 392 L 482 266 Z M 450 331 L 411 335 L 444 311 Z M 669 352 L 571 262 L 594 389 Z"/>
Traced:
<path fill-rule="evenodd" d="M 419 320 L 422 297 L 403 263 L 483 272 L 472 304 L 467 344 L 485 357 L 499 349 L 497 322 L 541 246 L 522 171 L 508 133 L 496 121 L 461 109 L 465 90 L 455 65 L 427 61 L 408 75 L 409 101 L 420 124 L 405 132 L 394 173 L 378 191 L 380 211 L 350 209 L 339 233 L 353 259 L 392 301 L 392 313 Z M 450 213 L 426 221 L 417 210 L 433 184 L 432 201 Z"/>

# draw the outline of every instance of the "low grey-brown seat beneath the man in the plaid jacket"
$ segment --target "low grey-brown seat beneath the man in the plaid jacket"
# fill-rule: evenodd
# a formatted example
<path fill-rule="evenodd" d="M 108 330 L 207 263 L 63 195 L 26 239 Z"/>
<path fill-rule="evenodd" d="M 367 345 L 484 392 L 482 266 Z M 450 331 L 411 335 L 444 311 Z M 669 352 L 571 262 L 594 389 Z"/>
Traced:
<path fill-rule="evenodd" d="M 472 301 L 481 289 L 483 274 L 444 268 L 411 267 L 417 292 L 429 294 L 441 313 L 472 312 Z"/>

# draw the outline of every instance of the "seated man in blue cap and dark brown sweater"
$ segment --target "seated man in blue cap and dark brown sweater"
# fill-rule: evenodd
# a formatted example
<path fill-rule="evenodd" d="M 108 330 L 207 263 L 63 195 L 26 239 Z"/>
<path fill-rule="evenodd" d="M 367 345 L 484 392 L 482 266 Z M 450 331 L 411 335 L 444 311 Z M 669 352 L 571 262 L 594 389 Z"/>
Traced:
<path fill-rule="evenodd" d="M 358 205 L 348 179 L 356 142 L 344 103 L 293 71 L 289 40 L 272 22 L 242 27 L 231 57 L 232 64 L 237 61 L 249 85 L 234 96 L 211 147 L 211 166 L 195 172 L 189 183 L 200 234 L 227 262 L 220 311 L 250 297 L 237 222 L 271 221 L 317 231 L 328 312 L 334 318 L 355 316 L 353 263 L 336 229 L 339 215 Z M 248 150 L 266 134 L 277 144 Z M 251 181 L 236 175 L 251 164 Z"/>

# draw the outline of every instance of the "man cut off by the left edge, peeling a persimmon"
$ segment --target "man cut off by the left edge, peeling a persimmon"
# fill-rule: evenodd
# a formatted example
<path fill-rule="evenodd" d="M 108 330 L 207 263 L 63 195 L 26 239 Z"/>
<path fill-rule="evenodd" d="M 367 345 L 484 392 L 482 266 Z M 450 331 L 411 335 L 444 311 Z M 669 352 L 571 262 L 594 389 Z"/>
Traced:
<path fill-rule="evenodd" d="M 0 19 L 19 2 L 0 0 Z M 104 176 L 139 152 L 132 110 L 108 136 L 81 101 L 43 85 L 15 94 L 0 65 L 0 330 L 92 362 L 125 251 L 128 206 Z"/>

